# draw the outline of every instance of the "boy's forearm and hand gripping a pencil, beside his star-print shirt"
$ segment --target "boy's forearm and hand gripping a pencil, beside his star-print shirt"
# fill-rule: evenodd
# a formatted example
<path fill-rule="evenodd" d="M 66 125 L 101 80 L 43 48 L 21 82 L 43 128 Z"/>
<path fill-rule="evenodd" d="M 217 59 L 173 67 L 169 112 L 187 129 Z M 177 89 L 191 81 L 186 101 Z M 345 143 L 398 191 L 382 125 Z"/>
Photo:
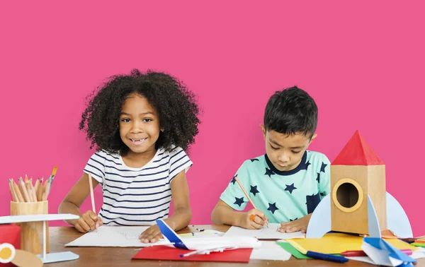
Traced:
<path fill-rule="evenodd" d="M 251 215 L 255 215 L 254 220 L 250 220 Z M 234 225 L 246 229 L 261 229 L 266 223 L 266 219 L 266 215 L 261 210 L 252 209 L 246 213 L 234 211 L 221 199 L 215 205 L 211 214 L 212 223 L 216 225 Z"/>

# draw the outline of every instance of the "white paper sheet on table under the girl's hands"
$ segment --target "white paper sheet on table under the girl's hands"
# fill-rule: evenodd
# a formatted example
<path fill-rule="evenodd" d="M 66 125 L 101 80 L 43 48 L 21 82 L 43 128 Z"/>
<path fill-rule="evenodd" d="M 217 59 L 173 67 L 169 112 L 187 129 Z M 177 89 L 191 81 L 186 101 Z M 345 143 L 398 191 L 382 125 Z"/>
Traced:
<path fill-rule="evenodd" d="M 98 227 L 97 232 L 88 232 L 65 244 L 65 247 L 149 247 L 152 244 L 142 243 L 139 239 L 140 234 L 147 228 L 147 226 L 103 225 Z M 165 243 L 164 239 L 159 242 Z"/>

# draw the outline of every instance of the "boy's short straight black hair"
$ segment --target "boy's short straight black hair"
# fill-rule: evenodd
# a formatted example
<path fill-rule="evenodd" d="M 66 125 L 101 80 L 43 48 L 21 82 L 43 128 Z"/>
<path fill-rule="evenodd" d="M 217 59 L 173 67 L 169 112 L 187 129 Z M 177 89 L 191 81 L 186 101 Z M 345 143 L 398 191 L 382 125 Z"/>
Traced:
<path fill-rule="evenodd" d="M 316 102 L 297 86 L 276 91 L 267 102 L 264 126 L 266 131 L 303 133 L 311 138 L 317 127 Z"/>

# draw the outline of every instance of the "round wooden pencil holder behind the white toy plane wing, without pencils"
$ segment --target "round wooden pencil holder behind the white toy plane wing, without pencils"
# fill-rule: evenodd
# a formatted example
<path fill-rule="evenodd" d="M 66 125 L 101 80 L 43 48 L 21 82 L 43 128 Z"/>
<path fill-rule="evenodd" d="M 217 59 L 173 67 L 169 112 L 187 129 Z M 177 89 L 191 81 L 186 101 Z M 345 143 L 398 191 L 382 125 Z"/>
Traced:
<path fill-rule="evenodd" d="M 11 201 L 11 215 L 38 215 L 48 214 L 48 201 L 13 202 Z M 42 254 L 42 225 L 43 222 L 16 223 L 21 226 L 21 249 L 32 254 Z M 46 252 L 49 252 L 49 226 L 45 222 Z"/>

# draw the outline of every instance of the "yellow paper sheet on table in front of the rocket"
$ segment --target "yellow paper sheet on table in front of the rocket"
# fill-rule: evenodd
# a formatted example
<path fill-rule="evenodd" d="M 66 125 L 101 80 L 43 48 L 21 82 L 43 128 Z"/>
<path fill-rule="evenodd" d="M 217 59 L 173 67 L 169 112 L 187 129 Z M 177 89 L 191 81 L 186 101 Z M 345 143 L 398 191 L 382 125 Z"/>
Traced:
<path fill-rule="evenodd" d="M 361 245 L 363 244 L 363 237 L 331 233 L 324 235 L 322 238 L 288 239 L 286 241 L 302 254 L 307 254 L 307 251 L 324 254 L 340 254 L 348 250 L 362 250 Z M 416 247 L 399 239 L 385 239 L 385 241 L 392 244 L 396 249 L 417 250 Z"/>

